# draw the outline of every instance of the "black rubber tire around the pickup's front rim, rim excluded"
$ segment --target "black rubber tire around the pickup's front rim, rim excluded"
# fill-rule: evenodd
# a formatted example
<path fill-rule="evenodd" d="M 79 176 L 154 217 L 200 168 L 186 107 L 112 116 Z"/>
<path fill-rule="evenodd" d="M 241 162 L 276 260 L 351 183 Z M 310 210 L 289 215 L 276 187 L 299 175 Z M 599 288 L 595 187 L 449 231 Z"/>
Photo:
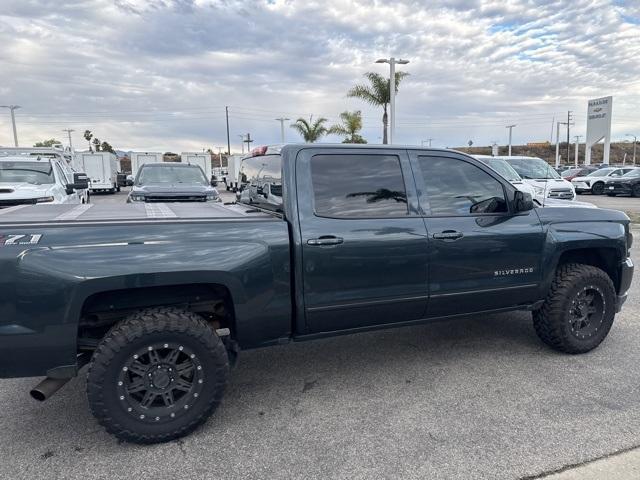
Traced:
<path fill-rule="evenodd" d="M 585 288 L 602 292 L 603 315 L 596 330 L 586 338 L 572 332 L 570 312 L 574 300 Z M 533 312 L 538 337 L 551 348 L 564 353 L 586 353 L 605 339 L 615 316 L 616 292 L 613 282 L 601 269 L 577 263 L 558 267 L 544 304 Z"/>

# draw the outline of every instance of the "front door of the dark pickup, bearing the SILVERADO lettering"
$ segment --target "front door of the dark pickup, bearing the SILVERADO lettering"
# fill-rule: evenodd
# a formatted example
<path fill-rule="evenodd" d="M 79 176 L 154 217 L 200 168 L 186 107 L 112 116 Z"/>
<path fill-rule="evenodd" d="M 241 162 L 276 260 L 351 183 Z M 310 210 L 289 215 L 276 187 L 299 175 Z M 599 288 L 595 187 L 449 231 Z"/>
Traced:
<path fill-rule="evenodd" d="M 513 212 L 512 187 L 468 157 L 410 156 L 430 240 L 428 316 L 537 300 L 543 233 L 536 212 Z"/>

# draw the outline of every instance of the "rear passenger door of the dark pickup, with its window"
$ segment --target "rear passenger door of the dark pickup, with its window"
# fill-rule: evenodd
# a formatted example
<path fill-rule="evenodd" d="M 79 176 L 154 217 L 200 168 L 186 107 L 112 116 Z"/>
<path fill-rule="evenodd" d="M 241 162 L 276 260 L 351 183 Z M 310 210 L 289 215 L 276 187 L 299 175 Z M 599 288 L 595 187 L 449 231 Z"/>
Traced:
<path fill-rule="evenodd" d="M 406 151 L 301 150 L 296 178 L 306 333 L 422 318 L 428 240 Z"/>

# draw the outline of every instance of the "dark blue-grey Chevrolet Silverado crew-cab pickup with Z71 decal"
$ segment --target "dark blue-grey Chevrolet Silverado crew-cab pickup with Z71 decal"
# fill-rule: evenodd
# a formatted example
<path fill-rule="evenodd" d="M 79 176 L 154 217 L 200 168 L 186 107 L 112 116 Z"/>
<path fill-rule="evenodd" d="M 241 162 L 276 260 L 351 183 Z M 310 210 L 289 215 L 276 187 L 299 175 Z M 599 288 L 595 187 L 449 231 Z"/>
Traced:
<path fill-rule="evenodd" d="M 118 438 L 183 436 L 243 349 L 525 310 L 579 354 L 627 297 L 624 213 L 546 208 L 462 153 L 286 145 L 242 161 L 238 202 L 0 210 L 0 377 L 85 365 Z M 10 409 L 10 405 L 5 405 Z"/>

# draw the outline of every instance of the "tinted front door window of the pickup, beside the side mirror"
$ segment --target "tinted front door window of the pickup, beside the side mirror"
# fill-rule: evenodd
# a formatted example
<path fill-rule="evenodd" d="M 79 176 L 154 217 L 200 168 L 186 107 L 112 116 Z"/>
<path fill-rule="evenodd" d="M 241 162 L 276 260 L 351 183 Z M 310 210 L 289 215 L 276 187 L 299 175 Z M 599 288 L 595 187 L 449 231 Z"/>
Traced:
<path fill-rule="evenodd" d="M 454 158 L 418 157 L 431 215 L 507 212 L 504 189 L 488 173 Z"/>

